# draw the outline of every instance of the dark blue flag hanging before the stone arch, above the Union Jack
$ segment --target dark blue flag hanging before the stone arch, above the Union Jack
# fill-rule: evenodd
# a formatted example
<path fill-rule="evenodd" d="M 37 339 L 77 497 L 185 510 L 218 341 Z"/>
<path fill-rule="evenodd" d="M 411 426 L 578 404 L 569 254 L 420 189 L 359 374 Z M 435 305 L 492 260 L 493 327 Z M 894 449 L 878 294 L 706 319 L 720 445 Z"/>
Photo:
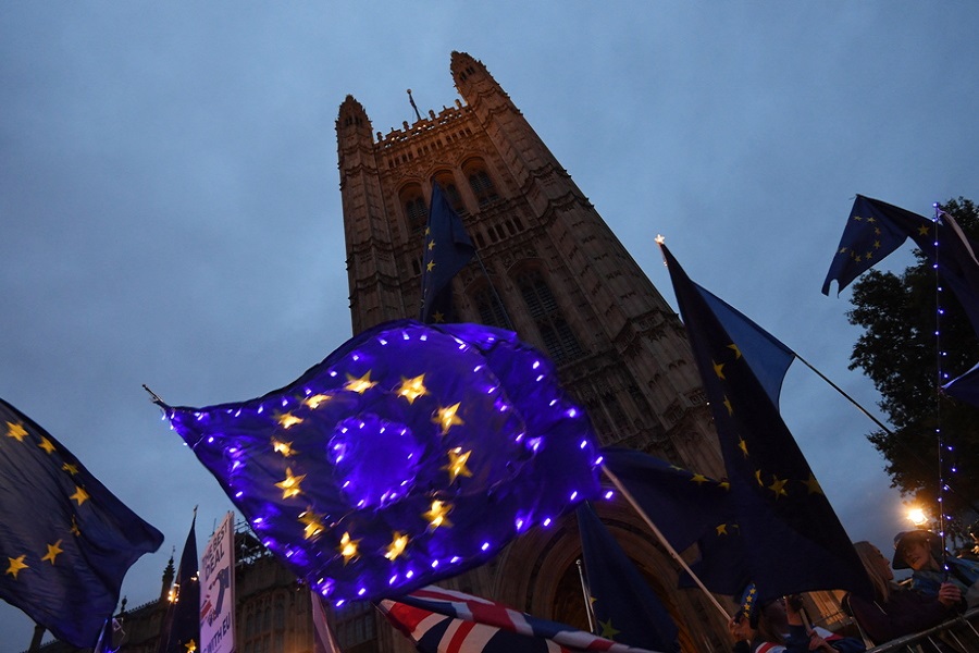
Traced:
<path fill-rule="evenodd" d="M 582 557 L 597 633 L 654 651 L 679 651 L 677 624 L 591 505 L 578 506 Z"/>

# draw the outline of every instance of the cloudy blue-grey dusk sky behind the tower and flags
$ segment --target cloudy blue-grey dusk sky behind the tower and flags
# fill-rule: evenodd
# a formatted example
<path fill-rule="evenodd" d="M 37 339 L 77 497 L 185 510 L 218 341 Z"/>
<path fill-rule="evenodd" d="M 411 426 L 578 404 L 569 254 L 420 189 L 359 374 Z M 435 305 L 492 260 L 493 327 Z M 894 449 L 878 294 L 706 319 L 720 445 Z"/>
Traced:
<path fill-rule="evenodd" d="M 676 308 L 654 243 L 869 410 L 854 196 L 979 200 L 979 5 L 945 2 L 0 3 L 0 397 L 166 540 L 232 509 L 161 420 L 281 387 L 351 335 L 337 109 L 387 133 L 481 60 Z M 910 245 L 882 269 L 902 270 Z M 873 423 L 795 364 L 782 411 L 853 540 L 908 527 Z M 0 602 L 0 651 L 33 624 Z M 50 636 L 48 636 L 50 638 Z"/>

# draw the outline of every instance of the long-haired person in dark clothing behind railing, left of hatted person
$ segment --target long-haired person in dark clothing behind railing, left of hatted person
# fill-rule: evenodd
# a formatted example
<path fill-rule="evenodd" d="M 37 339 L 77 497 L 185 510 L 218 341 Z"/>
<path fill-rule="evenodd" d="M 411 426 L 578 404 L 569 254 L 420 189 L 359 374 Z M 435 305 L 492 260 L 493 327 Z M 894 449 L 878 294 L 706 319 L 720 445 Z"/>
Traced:
<path fill-rule="evenodd" d="M 962 592 L 942 583 L 934 595 L 894 584 L 888 558 L 870 542 L 854 544 L 873 587 L 873 596 L 846 594 L 843 607 L 873 644 L 927 630 L 958 614 Z"/>

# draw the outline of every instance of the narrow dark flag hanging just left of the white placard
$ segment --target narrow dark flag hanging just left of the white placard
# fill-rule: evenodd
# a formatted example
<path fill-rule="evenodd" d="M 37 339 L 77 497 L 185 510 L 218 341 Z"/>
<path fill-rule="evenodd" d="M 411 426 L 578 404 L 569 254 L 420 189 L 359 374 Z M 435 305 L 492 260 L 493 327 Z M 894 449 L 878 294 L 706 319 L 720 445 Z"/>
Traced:
<path fill-rule="evenodd" d="M 200 644 L 200 579 L 197 558 L 197 513 L 184 542 L 181 566 L 170 596 L 170 605 L 160 629 L 158 653 L 188 653 Z"/>

